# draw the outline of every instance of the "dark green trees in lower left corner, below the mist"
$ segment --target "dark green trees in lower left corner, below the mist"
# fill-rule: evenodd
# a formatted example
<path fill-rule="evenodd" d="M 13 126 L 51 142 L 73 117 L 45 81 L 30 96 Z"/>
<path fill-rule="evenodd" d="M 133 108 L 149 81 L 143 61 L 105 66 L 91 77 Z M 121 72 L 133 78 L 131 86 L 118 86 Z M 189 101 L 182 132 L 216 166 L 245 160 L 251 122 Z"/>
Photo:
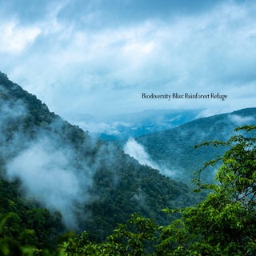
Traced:
<path fill-rule="evenodd" d="M 54 248 L 54 240 L 66 231 L 59 212 L 30 208 L 18 192 L 18 182 L 0 178 L 0 237 L 21 245 Z M 5 226 L 2 224 L 5 222 Z"/>

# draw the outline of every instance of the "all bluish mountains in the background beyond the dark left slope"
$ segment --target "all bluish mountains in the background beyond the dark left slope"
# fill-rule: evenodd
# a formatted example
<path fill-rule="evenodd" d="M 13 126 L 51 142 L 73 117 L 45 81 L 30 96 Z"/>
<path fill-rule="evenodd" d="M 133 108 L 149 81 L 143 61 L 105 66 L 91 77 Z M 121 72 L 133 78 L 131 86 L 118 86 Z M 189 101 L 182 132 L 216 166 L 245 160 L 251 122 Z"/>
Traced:
<path fill-rule="evenodd" d="M 194 146 L 206 140 L 226 140 L 237 126 L 256 123 L 256 108 L 237 110 L 227 114 L 216 114 L 200 118 L 202 110 L 144 110 L 138 113 L 116 115 L 98 120 L 89 114 L 70 114 L 69 120 L 89 130 L 93 137 L 115 142 L 127 154 L 142 164 L 147 164 L 175 180 L 190 184 L 194 171 L 199 170 L 206 161 L 223 154 L 225 148 Z M 92 132 L 97 131 L 98 132 Z M 105 132 L 102 132 L 105 131 Z M 138 145 L 126 144 L 135 138 Z M 134 151 L 133 151 L 134 150 Z M 142 159 L 142 150 L 146 159 Z M 135 152 L 136 151 L 136 152 Z M 215 170 L 202 174 L 202 180 L 212 182 Z"/>

